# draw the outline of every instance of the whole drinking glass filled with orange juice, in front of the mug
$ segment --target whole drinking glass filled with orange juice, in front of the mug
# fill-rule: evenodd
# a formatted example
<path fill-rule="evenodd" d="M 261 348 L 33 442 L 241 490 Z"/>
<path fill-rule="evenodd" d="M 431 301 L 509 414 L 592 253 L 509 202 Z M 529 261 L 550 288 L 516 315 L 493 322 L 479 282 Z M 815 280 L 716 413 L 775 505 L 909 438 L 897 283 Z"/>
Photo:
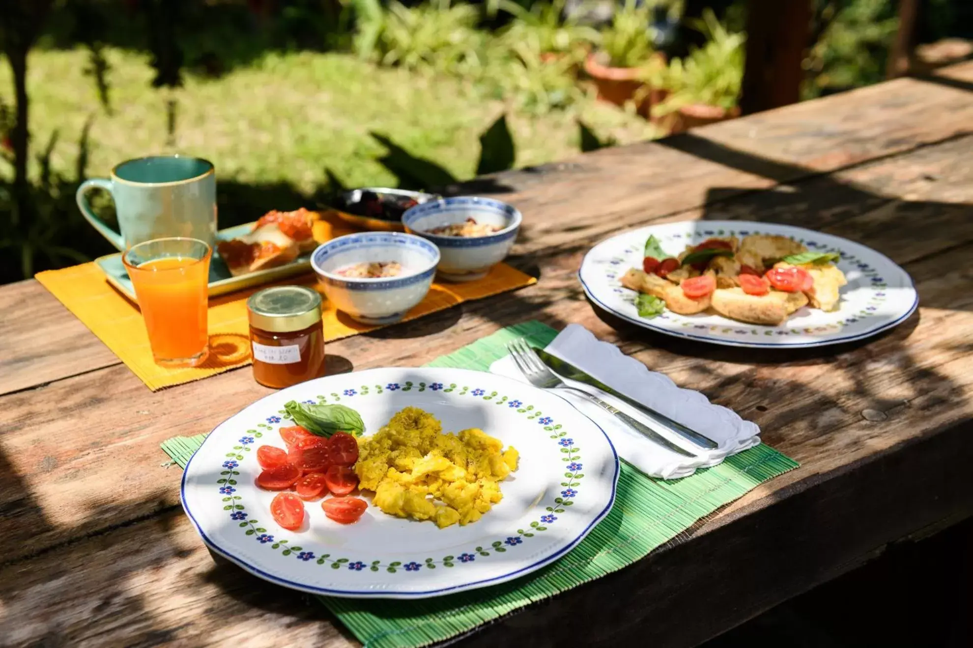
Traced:
<path fill-rule="evenodd" d="M 157 364 L 198 366 L 209 353 L 210 256 L 207 244 L 181 237 L 139 243 L 122 256 Z"/>

